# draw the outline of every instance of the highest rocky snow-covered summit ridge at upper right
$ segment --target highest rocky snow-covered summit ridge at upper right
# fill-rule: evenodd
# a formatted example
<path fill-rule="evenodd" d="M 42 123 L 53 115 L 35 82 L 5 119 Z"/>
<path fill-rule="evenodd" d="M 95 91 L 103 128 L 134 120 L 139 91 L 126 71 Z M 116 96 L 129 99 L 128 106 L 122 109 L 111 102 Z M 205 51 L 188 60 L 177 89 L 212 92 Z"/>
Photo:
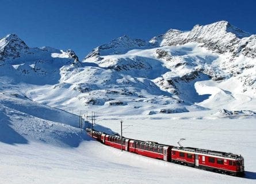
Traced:
<path fill-rule="evenodd" d="M 255 41 L 255 35 L 250 35 L 227 21 L 220 21 L 205 26 L 195 25 L 189 32 L 170 29 L 165 34 L 152 38 L 150 43 L 170 46 L 196 42 L 213 52 L 231 52 L 233 56 L 242 53 L 254 58 Z"/>

